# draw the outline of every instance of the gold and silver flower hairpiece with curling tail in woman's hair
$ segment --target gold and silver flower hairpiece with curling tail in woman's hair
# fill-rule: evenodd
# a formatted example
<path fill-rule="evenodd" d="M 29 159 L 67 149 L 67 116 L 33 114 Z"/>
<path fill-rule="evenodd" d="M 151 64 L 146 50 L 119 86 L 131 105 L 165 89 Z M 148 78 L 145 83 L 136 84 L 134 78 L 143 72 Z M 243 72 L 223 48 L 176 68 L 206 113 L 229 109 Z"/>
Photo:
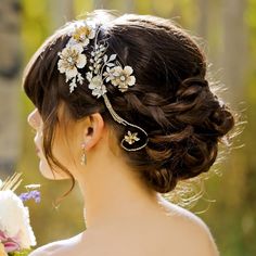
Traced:
<path fill-rule="evenodd" d="M 77 23 L 71 34 L 65 48 L 59 52 L 60 60 L 57 69 L 65 74 L 69 92 L 84 85 L 85 79 L 89 82 L 88 88 L 97 99 L 103 98 L 113 119 L 127 129 L 120 145 L 127 151 L 143 149 L 149 141 L 148 133 L 141 127 L 130 124 L 121 118 L 113 108 L 107 97 L 107 87 L 114 86 L 120 92 L 126 92 L 129 87 L 136 85 L 136 77 L 131 66 L 123 66 L 117 61 L 116 54 L 106 54 L 108 43 L 106 38 L 98 40 L 100 26 L 86 20 Z M 93 43 L 90 43 L 93 40 Z M 88 51 L 88 55 L 85 54 Z M 88 60 L 89 59 L 89 60 Z M 82 71 L 88 64 L 88 72 Z"/>

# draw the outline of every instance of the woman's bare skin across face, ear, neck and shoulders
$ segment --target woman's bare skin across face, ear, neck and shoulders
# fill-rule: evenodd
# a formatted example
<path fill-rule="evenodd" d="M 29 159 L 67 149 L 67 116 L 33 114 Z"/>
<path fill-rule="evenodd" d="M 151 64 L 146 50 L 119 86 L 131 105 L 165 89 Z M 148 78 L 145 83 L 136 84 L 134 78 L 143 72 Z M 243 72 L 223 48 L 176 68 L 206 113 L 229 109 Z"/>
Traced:
<path fill-rule="evenodd" d="M 219 255 L 208 228 L 199 217 L 167 202 L 138 178 L 99 113 L 65 123 L 62 112 L 63 121 L 56 127 L 53 154 L 80 187 L 87 230 L 39 247 L 30 256 Z M 30 113 L 28 123 L 37 131 L 35 144 L 39 150 L 40 171 L 52 179 L 42 154 L 43 124 L 37 110 Z M 84 142 L 86 165 L 80 164 Z M 67 178 L 57 168 L 53 171 L 54 179 Z"/>

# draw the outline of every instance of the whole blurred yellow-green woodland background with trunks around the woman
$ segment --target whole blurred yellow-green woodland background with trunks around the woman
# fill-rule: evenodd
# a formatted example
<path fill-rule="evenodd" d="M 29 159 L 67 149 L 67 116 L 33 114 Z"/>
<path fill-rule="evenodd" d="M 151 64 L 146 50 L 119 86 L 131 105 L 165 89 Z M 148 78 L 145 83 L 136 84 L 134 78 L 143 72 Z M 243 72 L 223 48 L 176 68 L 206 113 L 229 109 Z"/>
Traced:
<path fill-rule="evenodd" d="M 227 88 L 221 98 L 246 124 L 191 210 L 209 226 L 221 255 L 256 255 L 255 0 L 0 0 L 0 178 L 20 171 L 24 184 L 41 184 L 41 203 L 28 203 L 38 245 L 82 231 L 82 202 L 75 189 L 56 207 L 69 183 L 48 181 L 38 171 L 22 72 L 54 29 L 93 9 L 172 18 L 199 38 L 212 78 Z"/>

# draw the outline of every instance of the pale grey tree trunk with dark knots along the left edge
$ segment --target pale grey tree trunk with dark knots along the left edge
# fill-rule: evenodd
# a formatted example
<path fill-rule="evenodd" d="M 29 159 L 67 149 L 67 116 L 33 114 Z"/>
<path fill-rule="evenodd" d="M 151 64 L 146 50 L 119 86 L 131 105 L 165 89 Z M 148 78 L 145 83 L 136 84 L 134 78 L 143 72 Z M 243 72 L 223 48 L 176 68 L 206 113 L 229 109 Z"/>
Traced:
<path fill-rule="evenodd" d="M 18 0 L 1 0 L 0 4 L 0 176 L 14 171 L 20 155 L 20 86 L 21 41 Z"/>

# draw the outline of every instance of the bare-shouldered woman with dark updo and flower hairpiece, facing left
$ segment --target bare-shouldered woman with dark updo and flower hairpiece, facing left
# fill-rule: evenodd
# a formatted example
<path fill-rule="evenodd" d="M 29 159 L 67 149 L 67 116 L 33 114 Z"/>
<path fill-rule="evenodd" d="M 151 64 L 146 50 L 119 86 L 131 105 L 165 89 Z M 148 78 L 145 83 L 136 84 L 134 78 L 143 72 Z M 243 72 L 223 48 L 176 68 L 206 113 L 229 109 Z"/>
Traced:
<path fill-rule="evenodd" d="M 205 172 L 233 117 L 210 91 L 206 60 L 170 21 L 94 12 L 37 51 L 24 89 L 40 171 L 71 178 L 87 230 L 31 256 L 214 256 L 206 225 L 163 199 Z"/>

